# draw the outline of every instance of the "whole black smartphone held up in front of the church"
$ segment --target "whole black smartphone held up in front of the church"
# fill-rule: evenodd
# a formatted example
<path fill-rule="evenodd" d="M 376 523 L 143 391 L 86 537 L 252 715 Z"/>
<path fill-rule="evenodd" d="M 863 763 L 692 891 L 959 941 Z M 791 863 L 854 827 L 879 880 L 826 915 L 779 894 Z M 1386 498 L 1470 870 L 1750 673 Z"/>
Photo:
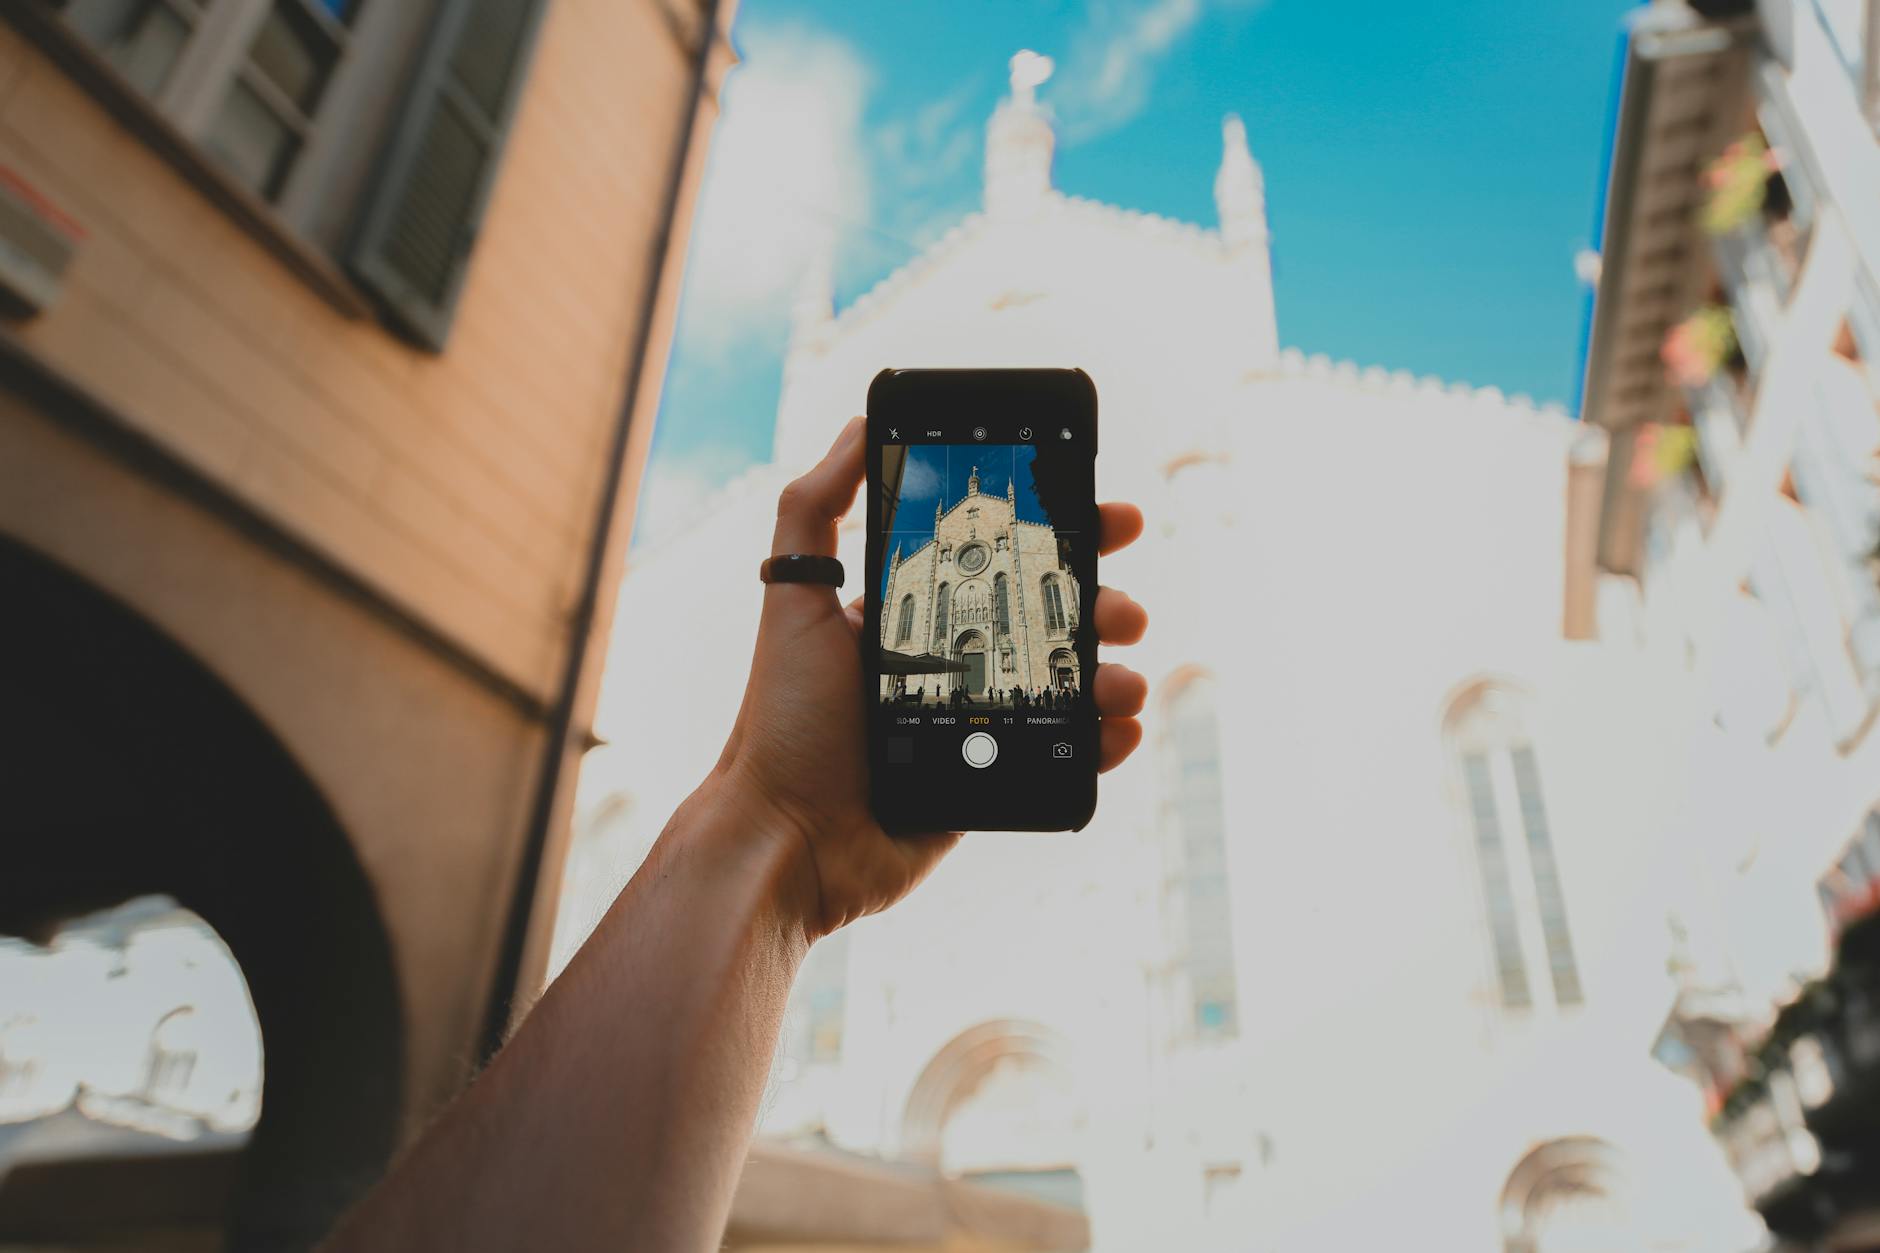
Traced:
<path fill-rule="evenodd" d="M 884 830 L 1090 820 L 1096 544 L 1089 374 L 876 374 L 861 664 Z"/>

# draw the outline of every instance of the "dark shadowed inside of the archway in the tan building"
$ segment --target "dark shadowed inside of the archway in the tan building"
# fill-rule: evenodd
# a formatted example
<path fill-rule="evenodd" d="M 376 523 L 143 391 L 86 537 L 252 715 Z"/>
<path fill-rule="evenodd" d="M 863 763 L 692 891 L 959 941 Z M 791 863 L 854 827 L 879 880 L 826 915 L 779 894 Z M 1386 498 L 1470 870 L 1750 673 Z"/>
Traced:
<path fill-rule="evenodd" d="M 64 920 L 149 896 L 214 928 L 267 1055 L 224 1219 L 235 1247 L 306 1247 L 384 1170 L 402 1108 L 400 1003 L 372 884 L 273 732 L 137 613 L 6 540 L 0 606 L 13 779 L 0 824 L 23 871 L 0 875 L 0 933 L 45 941 Z M 77 1166 L 68 1187 L 88 1191 Z M 145 1189 L 175 1206 L 173 1191 Z M 64 1232 L 47 1215 L 98 1217 L 86 1204 L 26 1206 L 39 1227 L 15 1232 L 6 1200 L 0 1240 L 53 1242 Z"/>

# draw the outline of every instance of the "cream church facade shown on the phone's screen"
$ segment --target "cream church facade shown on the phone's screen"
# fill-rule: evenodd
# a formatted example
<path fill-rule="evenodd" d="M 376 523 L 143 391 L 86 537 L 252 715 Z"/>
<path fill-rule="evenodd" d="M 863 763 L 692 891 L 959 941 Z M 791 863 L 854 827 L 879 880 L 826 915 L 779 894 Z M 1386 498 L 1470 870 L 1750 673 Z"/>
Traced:
<path fill-rule="evenodd" d="M 963 692 L 1010 704 L 1013 692 L 1079 690 L 1077 578 L 1057 531 L 1019 517 L 1011 480 L 1004 495 L 983 495 L 974 467 L 966 495 L 934 506 L 931 540 L 906 555 L 895 544 L 882 606 L 884 649 L 959 666 L 882 675 L 882 700 L 936 704 Z"/>

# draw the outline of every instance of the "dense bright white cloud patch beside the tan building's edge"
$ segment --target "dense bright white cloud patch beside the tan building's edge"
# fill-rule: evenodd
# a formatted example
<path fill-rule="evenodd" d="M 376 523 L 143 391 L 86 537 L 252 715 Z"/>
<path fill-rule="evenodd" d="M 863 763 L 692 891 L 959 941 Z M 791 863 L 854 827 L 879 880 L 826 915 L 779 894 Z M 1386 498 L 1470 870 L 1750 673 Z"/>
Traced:
<path fill-rule="evenodd" d="M 688 350 L 728 354 L 775 333 L 805 260 L 869 216 L 855 51 L 803 28 L 741 30 L 713 135 L 686 271 Z"/>

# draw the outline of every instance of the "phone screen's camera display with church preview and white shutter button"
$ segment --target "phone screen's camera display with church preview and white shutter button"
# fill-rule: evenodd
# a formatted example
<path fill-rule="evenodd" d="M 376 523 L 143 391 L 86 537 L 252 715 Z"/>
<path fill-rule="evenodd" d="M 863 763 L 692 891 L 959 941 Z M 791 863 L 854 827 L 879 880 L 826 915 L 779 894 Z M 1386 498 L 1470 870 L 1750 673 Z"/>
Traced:
<path fill-rule="evenodd" d="M 972 431 L 979 436 L 979 429 Z M 1010 438 L 1010 436 L 1008 436 Z M 1089 463 L 1047 444 L 889 444 L 882 457 L 880 707 L 895 760 L 1073 758 L 1083 709 L 1075 531 Z M 964 736 L 964 739 L 961 739 Z M 1000 749 L 1006 745 L 1006 751 Z"/>

